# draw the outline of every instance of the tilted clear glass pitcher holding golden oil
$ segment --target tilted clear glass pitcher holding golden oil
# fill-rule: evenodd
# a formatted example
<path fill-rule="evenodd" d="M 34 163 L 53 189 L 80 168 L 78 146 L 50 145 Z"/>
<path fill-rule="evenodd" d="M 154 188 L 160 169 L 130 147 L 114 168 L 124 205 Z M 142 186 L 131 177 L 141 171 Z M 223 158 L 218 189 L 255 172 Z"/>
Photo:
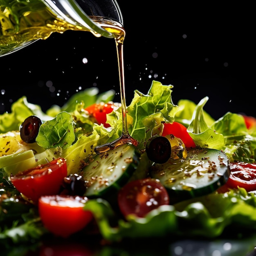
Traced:
<path fill-rule="evenodd" d="M 106 25 L 123 27 L 116 0 L 0 0 L 0 56 L 53 32 L 81 30 L 114 38 Z"/>

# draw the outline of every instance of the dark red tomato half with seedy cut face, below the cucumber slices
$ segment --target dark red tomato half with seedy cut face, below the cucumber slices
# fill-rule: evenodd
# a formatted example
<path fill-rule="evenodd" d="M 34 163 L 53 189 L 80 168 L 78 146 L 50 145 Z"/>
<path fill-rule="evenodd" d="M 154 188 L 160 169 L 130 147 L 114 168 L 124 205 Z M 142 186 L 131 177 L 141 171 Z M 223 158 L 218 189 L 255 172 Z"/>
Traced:
<path fill-rule="evenodd" d="M 119 209 L 125 217 L 128 214 L 144 217 L 164 204 L 169 204 L 168 193 L 159 180 L 152 178 L 129 182 L 118 193 Z"/>

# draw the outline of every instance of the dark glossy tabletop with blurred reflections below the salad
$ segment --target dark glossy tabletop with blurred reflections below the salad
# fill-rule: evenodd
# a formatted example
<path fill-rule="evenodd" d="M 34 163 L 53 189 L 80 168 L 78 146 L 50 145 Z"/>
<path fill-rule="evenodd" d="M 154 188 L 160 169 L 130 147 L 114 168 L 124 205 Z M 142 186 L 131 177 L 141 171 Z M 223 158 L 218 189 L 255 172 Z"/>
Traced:
<path fill-rule="evenodd" d="M 243 239 L 175 241 L 174 238 L 108 244 L 95 236 L 49 239 L 26 256 L 256 256 L 256 235 Z M 21 254 L 20 254 L 21 256 Z"/>

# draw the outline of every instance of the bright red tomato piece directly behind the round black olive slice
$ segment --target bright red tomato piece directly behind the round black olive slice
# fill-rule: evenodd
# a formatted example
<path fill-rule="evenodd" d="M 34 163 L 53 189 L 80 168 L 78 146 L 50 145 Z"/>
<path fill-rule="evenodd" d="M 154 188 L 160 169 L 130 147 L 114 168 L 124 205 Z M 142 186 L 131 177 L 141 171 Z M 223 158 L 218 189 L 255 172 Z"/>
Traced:
<path fill-rule="evenodd" d="M 186 130 L 187 128 L 178 122 L 172 124 L 164 123 L 164 130 L 162 136 L 173 134 L 175 137 L 180 138 L 187 148 L 194 148 L 195 142 L 190 137 Z"/>

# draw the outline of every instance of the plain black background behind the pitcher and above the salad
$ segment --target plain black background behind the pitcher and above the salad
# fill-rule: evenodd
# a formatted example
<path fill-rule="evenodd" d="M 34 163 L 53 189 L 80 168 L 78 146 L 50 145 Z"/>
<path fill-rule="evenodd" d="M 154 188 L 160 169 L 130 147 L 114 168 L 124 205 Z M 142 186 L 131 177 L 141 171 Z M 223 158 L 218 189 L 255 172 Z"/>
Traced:
<path fill-rule="evenodd" d="M 119 5 L 126 30 L 127 105 L 135 89 L 147 93 L 157 80 L 174 86 L 173 103 L 209 96 L 204 109 L 216 119 L 227 111 L 256 116 L 252 7 L 164 0 L 119 0 Z M 23 95 L 45 111 L 62 106 L 77 90 L 97 86 L 119 92 L 114 40 L 87 32 L 54 33 L 0 57 L 0 70 L 0 113 Z"/>

